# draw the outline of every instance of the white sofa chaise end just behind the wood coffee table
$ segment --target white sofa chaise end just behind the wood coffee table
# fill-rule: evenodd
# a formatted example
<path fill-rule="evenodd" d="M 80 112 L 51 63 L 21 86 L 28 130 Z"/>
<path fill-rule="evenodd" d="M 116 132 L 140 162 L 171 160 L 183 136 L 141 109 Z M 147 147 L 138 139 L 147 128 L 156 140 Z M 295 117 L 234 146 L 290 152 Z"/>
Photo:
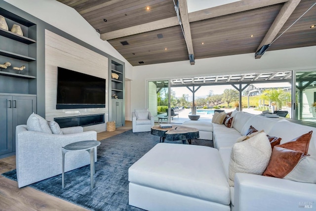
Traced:
<path fill-rule="evenodd" d="M 213 140 L 213 124 L 211 122 L 186 121 L 182 125 L 197 128 L 199 132 L 199 139 Z"/>

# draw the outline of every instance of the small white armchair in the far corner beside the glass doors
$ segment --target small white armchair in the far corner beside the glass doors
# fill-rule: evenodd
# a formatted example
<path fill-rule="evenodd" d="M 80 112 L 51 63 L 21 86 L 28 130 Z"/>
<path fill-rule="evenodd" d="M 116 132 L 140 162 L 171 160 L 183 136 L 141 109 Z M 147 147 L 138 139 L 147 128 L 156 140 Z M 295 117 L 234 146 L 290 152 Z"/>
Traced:
<path fill-rule="evenodd" d="M 155 125 L 155 118 L 148 109 L 135 109 L 132 112 L 133 132 L 147 132 Z"/>

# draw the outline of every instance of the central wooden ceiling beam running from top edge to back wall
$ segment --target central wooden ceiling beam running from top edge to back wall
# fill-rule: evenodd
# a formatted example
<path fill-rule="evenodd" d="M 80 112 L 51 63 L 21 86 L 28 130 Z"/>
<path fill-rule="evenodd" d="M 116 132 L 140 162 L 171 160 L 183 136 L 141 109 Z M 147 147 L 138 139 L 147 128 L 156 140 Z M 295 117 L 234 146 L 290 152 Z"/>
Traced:
<path fill-rule="evenodd" d="M 182 22 L 182 27 L 183 27 L 184 38 L 188 47 L 188 53 L 194 54 L 191 28 L 190 28 L 190 22 L 189 22 L 189 17 L 188 17 L 187 0 L 178 0 L 178 2 L 179 2 L 179 10 L 180 10 L 180 17 L 181 17 L 181 22 Z M 195 64 L 194 61 L 190 63 L 191 65 Z"/>

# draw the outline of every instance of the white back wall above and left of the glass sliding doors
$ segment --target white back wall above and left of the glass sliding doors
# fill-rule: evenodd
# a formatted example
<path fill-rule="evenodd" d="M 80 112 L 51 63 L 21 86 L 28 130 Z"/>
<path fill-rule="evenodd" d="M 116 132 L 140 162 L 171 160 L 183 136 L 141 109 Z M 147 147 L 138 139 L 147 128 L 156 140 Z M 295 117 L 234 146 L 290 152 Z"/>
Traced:
<path fill-rule="evenodd" d="M 131 110 L 147 106 L 146 81 L 168 78 L 216 76 L 281 70 L 316 69 L 316 46 L 266 52 L 261 59 L 254 53 L 170 62 L 133 68 Z M 134 91 L 137 90 L 137 91 Z"/>

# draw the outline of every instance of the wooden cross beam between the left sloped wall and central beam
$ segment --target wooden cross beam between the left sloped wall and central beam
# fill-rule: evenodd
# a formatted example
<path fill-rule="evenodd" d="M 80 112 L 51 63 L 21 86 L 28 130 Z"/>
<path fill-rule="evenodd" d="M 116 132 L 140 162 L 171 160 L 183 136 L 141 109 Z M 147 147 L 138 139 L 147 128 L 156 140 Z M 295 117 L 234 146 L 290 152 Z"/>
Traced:
<path fill-rule="evenodd" d="M 124 29 L 119 29 L 116 31 L 103 33 L 100 38 L 104 41 L 112 40 L 116 38 L 122 38 L 130 35 L 140 34 L 143 32 L 150 32 L 157 29 L 163 29 L 171 26 L 179 25 L 179 21 L 177 17 L 170 17 L 150 23 L 140 24 L 137 26 L 127 27 Z"/>

